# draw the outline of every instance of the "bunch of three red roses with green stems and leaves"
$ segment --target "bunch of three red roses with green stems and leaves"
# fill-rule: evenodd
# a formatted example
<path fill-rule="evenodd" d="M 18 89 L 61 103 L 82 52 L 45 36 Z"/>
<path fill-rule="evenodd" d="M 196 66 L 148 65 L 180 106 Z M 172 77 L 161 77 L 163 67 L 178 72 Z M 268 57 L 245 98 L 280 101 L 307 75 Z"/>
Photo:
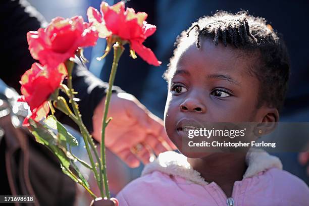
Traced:
<path fill-rule="evenodd" d="M 130 55 L 133 59 L 136 58 L 136 53 L 151 65 L 159 66 L 161 62 L 142 44 L 156 31 L 156 26 L 145 21 L 146 13 L 135 13 L 131 8 L 125 9 L 123 2 L 114 6 L 102 2 L 100 12 L 90 7 L 87 16 L 88 23 L 84 22 L 81 16 L 71 19 L 57 17 L 46 28 L 27 33 L 30 53 L 39 63 L 34 63 L 22 76 L 20 83 L 23 95 L 19 101 L 27 102 L 31 111 L 23 125 L 31 131 L 37 142 L 44 144 L 55 154 L 61 163 L 62 171 L 96 198 L 76 166 L 76 162 L 80 162 L 93 172 L 101 197 L 110 198 L 106 174 L 105 129 L 112 121 L 112 117 L 108 117 L 108 109 L 118 62 L 124 52 L 123 45 L 130 44 Z M 72 88 L 72 58 L 77 56 L 83 62 L 86 61 L 83 57 L 83 47 L 95 45 L 98 38 L 107 40 L 105 54 L 97 58 L 98 60 L 103 59 L 114 48 L 114 61 L 102 119 L 100 154 L 83 124 L 74 97 L 76 92 Z M 65 78 L 67 84 L 63 83 Z M 60 95 L 59 90 L 67 95 L 69 102 Z M 56 119 L 55 109 L 68 115 L 78 125 L 90 165 L 72 153 L 71 147 L 77 146 L 78 142 Z M 48 115 L 49 112 L 52 114 Z"/>

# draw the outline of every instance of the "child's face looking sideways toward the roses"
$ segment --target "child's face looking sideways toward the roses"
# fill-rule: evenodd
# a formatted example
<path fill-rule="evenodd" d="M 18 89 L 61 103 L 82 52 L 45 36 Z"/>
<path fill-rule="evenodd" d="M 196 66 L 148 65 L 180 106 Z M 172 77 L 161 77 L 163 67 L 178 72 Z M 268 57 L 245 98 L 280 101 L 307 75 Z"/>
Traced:
<path fill-rule="evenodd" d="M 231 46 L 215 46 L 209 39 L 201 43 L 198 49 L 193 42 L 180 55 L 165 107 L 166 132 L 190 158 L 210 154 L 182 150 L 182 127 L 188 122 L 260 122 L 265 115 L 263 108 L 256 109 L 259 81 L 248 72 L 256 58 L 240 56 Z"/>

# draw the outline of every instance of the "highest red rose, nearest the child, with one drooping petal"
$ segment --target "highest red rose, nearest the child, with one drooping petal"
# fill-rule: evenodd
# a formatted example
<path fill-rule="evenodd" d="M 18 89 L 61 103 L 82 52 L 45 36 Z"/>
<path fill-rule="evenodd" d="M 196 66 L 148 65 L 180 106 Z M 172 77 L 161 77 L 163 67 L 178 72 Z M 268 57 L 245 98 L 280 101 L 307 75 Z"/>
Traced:
<path fill-rule="evenodd" d="M 151 49 L 142 44 L 157 29 L 155 25 L 145 22 L 146 13 L 135 13 L 131 8 L 125 10 L 123 2 L 119 2 L 114 6 L 102 2 L 100 8 L 101 14 L 93 7 L 89 7 L 87 11 L 88 20 L 98 30 L 99 37 L 119 36 L 123 40 L 128 40 L 131 49 L 135 50 L 148 64 L 155 66 L 161 64 Z"/>

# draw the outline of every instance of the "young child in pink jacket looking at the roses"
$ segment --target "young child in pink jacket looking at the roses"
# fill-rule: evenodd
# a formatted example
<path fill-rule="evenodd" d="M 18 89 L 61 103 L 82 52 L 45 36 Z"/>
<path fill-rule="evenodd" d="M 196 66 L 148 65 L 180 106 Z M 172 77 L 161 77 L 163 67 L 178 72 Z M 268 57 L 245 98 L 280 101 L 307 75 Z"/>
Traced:
<path fill-rule="evenodd" d="M 182 155 L 161 153 L 120 205 L 309 205 L 306 184 L 266 152 L 182 148 L 190 122 L 278 122 L 288 76 L 285 44 L 264 19 L 218 12 L 193 23 L 166 72 L 165 128 Z"/>

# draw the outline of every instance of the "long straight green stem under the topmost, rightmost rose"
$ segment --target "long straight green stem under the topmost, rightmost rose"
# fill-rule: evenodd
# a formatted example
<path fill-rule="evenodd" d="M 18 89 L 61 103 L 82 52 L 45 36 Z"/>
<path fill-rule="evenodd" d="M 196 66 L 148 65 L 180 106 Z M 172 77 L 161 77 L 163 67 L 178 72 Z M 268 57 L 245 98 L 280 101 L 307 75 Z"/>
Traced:
<path fill-rule="evenodd" d="M 116 71 L 118 67 L 119 59 L 124 51 L 124 47 L 119 43 L 116 42 L 114 44 L 114 60 L 113 60 L 113 66 L 110 74 L 110 80 L 109 80 L 109 88 L 106 93 L 106 99 L 104 104 L 104 116 L 102 119 L 102 133 L 101 133 L 101 142 L 100 142 L 100 149 L 101 149 L 101 173 L 103 173 L 104 176 L 104 187 L 105 187 L 105 194 L 107 198 L 111 198 L 110 191 L 109 191 L 109 185 L 108 185 L 108 179 L 107 179 L 107 172 L 106 172 L 106 159 L 105 159 L 105 129 L 108 124 L 107 122 L 107 115 L 109 111 L 109 105 L 111 101 L 112 96 L 112 86 L 114 84 Z"/>

